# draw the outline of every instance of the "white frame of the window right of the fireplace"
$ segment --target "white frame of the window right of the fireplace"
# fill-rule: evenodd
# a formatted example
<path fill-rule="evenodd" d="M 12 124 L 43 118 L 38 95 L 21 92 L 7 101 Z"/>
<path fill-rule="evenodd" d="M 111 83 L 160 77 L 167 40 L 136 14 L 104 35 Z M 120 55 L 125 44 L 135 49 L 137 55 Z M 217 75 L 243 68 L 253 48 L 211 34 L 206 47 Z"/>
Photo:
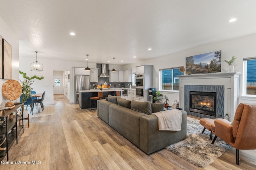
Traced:
<path fill-rule="evenodd" d="M 247 89 L 247 61 L 248 60 L 253 60 L 256 59 L 256 57 L 250 57 L 250 58 L 244 58 L 243 61 L 243 85 L 242 85 L 242 99 L 243 100 L 255 100 L 256 101 L 256 95 L 248 95 L 246 94 L 246 89 Z"/>

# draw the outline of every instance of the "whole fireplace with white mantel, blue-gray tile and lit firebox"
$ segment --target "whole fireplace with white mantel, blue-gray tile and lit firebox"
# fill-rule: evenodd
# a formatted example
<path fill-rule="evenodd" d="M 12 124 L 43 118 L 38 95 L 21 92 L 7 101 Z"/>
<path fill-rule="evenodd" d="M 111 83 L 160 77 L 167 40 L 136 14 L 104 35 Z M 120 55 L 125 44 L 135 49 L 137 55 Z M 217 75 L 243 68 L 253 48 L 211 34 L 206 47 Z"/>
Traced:
<path fill-rule="evenodd" d="M 211 73 L 180 76 L 180 107 L 200 118 L 234 119 L 239 104 L 239 76 L 242 73 Z"/>

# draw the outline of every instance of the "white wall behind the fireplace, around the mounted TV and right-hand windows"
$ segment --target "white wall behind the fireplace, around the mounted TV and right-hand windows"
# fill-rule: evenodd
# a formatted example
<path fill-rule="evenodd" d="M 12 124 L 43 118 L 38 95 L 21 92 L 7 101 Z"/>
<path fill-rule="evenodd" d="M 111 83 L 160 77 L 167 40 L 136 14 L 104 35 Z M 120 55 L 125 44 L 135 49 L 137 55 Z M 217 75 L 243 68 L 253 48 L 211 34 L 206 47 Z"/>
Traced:
<path fill-rule="evenodd" d="M 135 67 L 137 65 L 154 65 L 153 67 L 153 87 L 159 89 L 159 69 L 180 67 L 185 66 L 185 58 L 192 55 L 208 53 L 212 51 L 222 50 L 222 61 L 224 59 L 230 60 L 233 55 L 237 57 L 234 62 L 234 72 L 243 72 L 243 58 L 255 57 L 256 56 L 256 34 L 251 34 L 248 36 L 243 36 L 240 38 L 234 38 L 231 40 L 226 40 L 223 42 L 212 43 L 209 45 L 204 45 L 202 47 L 197 47 L 193 49 L 188 49 L 185 51 L 180 51 L 178 53 L 168 54 L 153 59 L 148 59 L 145 61 L 140 61 L 138 63 L 124 65 L 124 69 L 132 68 L 132 72 L 135 72 Z M 171 48 L 171 47 L 170 47 Z M 227 63 L 222 62 L 222 72 L 226 72 Z M 240 103 L 255 103 L 252 100 L 242 100 L 242 79 L 240 76 Z M 178 100 L 178 94 L 167 93 L 169 98 L 169 104 L 174 100 Z"/>

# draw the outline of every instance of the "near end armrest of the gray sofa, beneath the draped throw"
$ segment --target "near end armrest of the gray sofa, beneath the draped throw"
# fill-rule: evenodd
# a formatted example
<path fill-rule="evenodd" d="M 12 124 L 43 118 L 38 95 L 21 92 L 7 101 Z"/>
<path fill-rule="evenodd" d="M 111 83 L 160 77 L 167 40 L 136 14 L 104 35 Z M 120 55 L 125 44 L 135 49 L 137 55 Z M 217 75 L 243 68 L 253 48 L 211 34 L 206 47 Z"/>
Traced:
<path fill-rule="evenodd" d="M 182 125 L 180 131 L 158 130 L 158 118 L 146 115 L 140 118 L 140 149 L 151 154 L 186 138 L 187 113 L 182 111 Z"/>

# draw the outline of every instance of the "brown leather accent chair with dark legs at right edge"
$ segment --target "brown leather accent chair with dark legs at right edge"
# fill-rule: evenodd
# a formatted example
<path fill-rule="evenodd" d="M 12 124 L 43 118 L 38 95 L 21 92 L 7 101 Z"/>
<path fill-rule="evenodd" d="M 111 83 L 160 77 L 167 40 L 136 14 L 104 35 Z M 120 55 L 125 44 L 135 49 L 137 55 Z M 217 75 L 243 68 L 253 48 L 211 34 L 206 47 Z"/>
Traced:
<path fill-rule="evenodd" d="M 214 119 L 212 133 L 236 148 L 236 164 L 239 165 L 239 150 L 256 149 L 256 105 L 240 103 L 233 123 L 226 119 Z"/>

